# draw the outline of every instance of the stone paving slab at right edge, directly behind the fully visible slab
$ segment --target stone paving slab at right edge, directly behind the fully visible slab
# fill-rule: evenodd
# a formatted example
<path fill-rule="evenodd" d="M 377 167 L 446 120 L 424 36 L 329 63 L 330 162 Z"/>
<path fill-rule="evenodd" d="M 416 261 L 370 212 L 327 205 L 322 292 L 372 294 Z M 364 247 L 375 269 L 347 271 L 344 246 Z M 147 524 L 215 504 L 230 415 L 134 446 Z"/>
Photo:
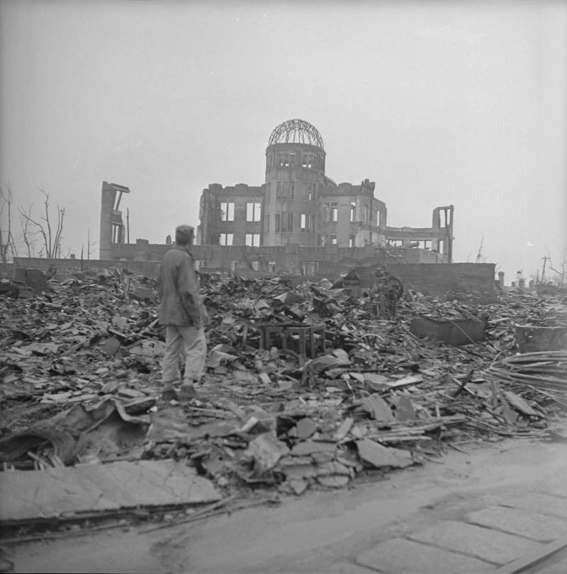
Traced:
<path fill-rule="evenodd" d="M 540 542 L 551 542 L 567 536 L 567 520 L 520 508 L 490 506 L 469 512 L 467 520 L 488 528 L 503 530 Z"/>

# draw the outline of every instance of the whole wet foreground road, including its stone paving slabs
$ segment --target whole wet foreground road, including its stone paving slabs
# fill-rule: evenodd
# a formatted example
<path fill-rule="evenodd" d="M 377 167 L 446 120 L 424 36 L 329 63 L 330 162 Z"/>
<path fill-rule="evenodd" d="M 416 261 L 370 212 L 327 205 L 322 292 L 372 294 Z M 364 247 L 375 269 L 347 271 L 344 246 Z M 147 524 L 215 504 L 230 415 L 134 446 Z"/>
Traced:
<path fill-rule="evenodd" d="M 150 534 L 8 549 L 16 572 L 498 572 L 567 536 L 567 444 L 465 445 L 386 481 Z M 567 572 L 567 563 L 540 574 Z"/>

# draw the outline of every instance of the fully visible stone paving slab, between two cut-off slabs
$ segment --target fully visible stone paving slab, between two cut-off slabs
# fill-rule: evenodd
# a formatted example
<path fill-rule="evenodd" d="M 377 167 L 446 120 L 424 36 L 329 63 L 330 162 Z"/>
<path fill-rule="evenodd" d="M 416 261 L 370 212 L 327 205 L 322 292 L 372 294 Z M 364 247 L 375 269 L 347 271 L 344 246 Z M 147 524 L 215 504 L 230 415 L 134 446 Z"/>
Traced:
<path fill-rule="evenodd" d="M 544 548 L 543 544 L 520 536 L 454 520 L 444 520 L 435 526 L 412 532 L 408 534 L 408 538 L 476 556 L 495 564 L 506 564 L 520 558 L 526 552 Z"/>

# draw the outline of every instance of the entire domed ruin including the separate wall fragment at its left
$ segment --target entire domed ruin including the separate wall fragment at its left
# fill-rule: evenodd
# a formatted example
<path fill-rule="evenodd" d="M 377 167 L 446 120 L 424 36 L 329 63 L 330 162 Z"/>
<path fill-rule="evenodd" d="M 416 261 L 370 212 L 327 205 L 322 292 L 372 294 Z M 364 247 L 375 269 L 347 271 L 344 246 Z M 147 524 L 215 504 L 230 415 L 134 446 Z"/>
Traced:
<path fill-rule="evenodd" d="M 335 183 L 325 175 L 322 137 L 303 120 L 271 133 L 262 185 L 203 190 L 193 248 L 198 265 L 315 275 L 323 262 L 452 263 L 453 206 L 433 210 L 431 227 L 388 227 L 376 184 Z M 125 241 L 118 210 L 128 188 L 103 182 L 100 258 L 160 260 L 166 244 Z M 118 197 L 117 197 L 118 194 Z"/>

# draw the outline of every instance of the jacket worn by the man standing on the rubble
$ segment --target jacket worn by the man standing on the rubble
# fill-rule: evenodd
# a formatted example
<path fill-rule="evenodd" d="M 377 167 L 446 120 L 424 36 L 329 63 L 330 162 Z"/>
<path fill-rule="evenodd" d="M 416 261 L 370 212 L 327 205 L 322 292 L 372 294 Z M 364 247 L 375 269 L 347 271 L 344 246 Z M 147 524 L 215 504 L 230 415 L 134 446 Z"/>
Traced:
<path fill-rule="evenodd" d="M 201 297 L 188 246 L 174 246 L 165 254 L 157 294 L 161 325 L 201 328 Z"/>

